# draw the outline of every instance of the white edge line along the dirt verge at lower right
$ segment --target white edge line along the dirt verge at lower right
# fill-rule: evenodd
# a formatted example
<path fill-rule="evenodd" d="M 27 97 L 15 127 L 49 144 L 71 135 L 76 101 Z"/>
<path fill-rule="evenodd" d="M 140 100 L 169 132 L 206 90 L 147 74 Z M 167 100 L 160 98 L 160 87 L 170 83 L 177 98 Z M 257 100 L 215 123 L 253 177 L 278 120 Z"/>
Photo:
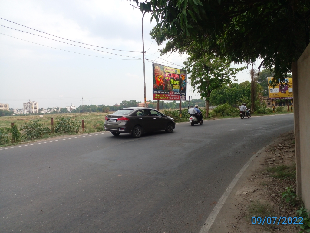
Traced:
<path fill-rule="evenodd" d="M 270 143 L 272 144 L 272 143 Z M 241 168 L 241 170 L 239 171 L 239 173 L 237 174 L 237 176 L 235 176 L 235 178 L 232 180 L 232 182 L 229 184 L 229 186 L 227 187 L 227 189 L 225 190 L 224 194 L 222 195 L 222 197 L 219 199 L 219 201 L 217 202 L 217 204 L 215 205 L 214 209 L 211 211 L 209 217 L 207 218 L 205 225 L 202 226 L 201 230 L 199 231 L 199 233 L 208 233 L 213 222 L 215 221 L 216 216 L 218 215 L 219 211 L 221 210 L 221 208 L 223 207 L 226 199 L 228 198 L 229 194 L 231 193 L 232 189 L 235 187 L 235 185 L 237 184 L 238 180 L 240 179 L 240 177 L 242 176 L 243 172 L 246 170 L 246 168 L 251 164 L 251 162 L 253 161 L 253 159 L 259 155 L 259 153 L 261 153 L 265 148 L 267 148 L 270 144 L 268 144 L 267 146 L 263 147 L 262 149 L 260 149 L 255 155 L 253 155 L 248 162 L 246 162 L 246 164 Z"/>

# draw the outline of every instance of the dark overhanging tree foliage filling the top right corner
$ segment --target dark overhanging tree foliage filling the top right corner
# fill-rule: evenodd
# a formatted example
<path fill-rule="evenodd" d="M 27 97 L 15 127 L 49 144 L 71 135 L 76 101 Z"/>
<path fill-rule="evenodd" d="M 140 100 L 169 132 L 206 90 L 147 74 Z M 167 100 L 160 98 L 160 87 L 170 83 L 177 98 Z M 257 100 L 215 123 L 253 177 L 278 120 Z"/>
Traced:
<path fill-rule="evenodd" d="M 157 44 L 168 40 L 162 53 L 216 53 L 247 64 L 261 58 L 259 67 L 284 81 L 309 44 L 308 0 L 133 1 L 156 20 L 151 36 Z"/>

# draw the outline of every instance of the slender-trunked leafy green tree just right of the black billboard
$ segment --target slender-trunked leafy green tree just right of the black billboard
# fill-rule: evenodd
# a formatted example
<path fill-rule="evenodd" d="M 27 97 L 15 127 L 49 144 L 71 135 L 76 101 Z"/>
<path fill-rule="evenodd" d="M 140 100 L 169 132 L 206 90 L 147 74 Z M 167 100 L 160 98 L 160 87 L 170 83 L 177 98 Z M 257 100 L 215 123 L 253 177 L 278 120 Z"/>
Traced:
<path fill-rule="evenodd" d="M 194 54 L 190 54 L 184 65 L 188 74 L 191 74 L 189 76 L 191 86 L 198 90 L 201 98 L 206 98 L 206 117 L 209 117 L 211 92 L 223 85 L 231 84 L 232 80 L 237 81 L 237 72 L 245 68 L 233 68 L 226 58 L 208 54 L 199 59 Z"/>

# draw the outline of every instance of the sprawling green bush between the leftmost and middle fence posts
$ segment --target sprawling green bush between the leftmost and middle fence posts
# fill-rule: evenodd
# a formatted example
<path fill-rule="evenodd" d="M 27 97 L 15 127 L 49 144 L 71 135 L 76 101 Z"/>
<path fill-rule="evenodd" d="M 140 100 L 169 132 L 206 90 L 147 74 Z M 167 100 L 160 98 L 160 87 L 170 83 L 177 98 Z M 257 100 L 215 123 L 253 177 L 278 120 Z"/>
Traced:
<path fill-rule="evenodd" d="M 23 137 L 27 140 L 37 139 L 42 137 L 44 134 L 51 133 L 51 129 L 47 126 L 43 126 L 38 120 L 31 120 L 24 124 L 20 128 L 23 133 Z"/>

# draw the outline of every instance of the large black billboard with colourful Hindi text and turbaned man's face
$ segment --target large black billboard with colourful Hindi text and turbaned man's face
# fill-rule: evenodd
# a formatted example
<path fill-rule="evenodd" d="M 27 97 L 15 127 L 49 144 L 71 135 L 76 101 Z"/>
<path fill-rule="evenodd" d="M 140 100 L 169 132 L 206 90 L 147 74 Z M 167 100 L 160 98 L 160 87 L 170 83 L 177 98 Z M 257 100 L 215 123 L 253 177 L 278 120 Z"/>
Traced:
<path fill-rule="evenodd" d="M 186 70 L 153 63 L 153 100 L 186 100 Z"/>

